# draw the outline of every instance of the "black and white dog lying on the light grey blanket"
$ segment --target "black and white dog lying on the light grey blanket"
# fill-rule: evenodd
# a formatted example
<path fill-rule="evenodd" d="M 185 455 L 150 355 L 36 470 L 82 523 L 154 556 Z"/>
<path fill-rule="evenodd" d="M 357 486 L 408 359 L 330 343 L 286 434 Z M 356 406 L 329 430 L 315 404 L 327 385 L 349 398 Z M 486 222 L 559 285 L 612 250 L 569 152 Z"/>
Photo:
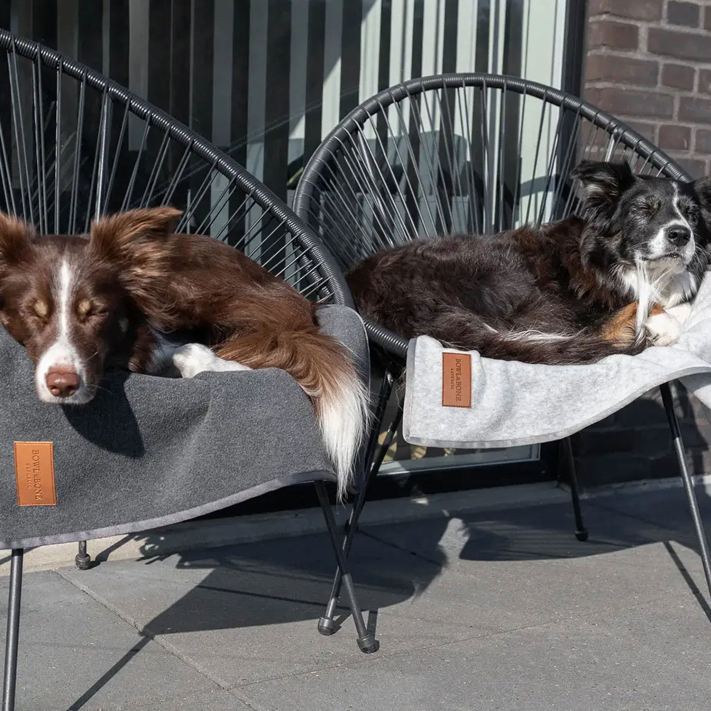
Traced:
<path fill-rule="evenodd" d="M 363 316 L 488 358 L 592 363 L 678 340 L 709 262 L 711 178 L 583 161 L 579 217 L 380 252 L 348 284 Z"/>

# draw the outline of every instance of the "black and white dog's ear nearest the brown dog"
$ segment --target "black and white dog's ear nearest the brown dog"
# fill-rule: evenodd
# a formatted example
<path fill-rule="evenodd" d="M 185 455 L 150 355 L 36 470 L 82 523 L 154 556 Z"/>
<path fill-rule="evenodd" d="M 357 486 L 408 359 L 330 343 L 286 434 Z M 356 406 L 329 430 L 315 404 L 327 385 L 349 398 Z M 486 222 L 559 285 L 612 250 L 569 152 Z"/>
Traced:
<path fill-rule="evenodd" d="M 579 181 L 582 213 L 587 218 L 611 216 L 622 193 L 636 181 L 627 161 L 582 161 L 570 177 Z"/>

